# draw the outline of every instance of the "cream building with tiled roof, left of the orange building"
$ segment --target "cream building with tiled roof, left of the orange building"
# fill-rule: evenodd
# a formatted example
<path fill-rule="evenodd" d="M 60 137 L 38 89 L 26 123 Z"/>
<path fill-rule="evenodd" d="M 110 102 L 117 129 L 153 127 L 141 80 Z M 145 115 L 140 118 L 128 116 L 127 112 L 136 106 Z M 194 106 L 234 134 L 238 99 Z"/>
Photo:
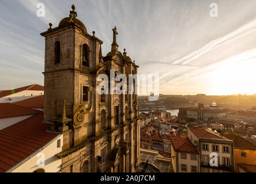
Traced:
<path fill-rule="evenodd" d="M 234 141 L 209 129 L 187 129 L 187 137 L 199 152 L 201 173 L 225 173 L 235 171 Z M 214 158 L 214 154 L 217 158 Z M 214 161 L 211 166 L 210 160 Z M 217 160 L 217 161 L 216 161 Z M 217 163 L 215 163 L 217 162 Z"/>

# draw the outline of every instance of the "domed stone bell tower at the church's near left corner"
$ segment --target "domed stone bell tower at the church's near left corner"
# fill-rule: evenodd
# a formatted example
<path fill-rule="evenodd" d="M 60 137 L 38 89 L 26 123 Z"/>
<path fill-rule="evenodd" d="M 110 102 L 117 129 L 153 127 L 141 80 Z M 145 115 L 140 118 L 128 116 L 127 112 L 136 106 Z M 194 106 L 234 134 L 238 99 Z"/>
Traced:
<path fill-rule="evenodd" d="M 50 28 L 41 33 L 46 39 L 44 121 L 54 122 L 52 130 L 69 134 L 67 141 L 64 140 L 64 148 L 79 144 L 85 138 L 78 132 L 82 121 L 95 121 L 91 113 L 96 112 L 93 109 L 96 100 L 93 98 L 96 93 L 94 73 L 102 57 L 100 45 L 103 41 L 95 37 L 95 32 L 93 35 L 87 32 L 75 9 L 72 5 L 69 17 L 63 18 L 56 28 L 50 23 Z M 80 111 L 76 112 L 78 108 Z M 89 136 L 95 133 L 95 128 L 83 131 Z"/>

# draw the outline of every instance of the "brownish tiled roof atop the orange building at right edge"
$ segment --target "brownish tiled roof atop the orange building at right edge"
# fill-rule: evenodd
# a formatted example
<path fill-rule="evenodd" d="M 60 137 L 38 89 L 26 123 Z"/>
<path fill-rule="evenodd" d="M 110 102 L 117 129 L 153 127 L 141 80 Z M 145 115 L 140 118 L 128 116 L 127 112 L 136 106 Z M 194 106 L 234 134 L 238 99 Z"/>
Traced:
<path fill-rule="evenodd" d="M 234 141 L 234 147 L 242 150 L 256 150 L 256 145 L 251 143 L 250 141 L 243 139 L 242 137 L 236 135 L 235 133 L 225 134 L 229 140 Z"/>

